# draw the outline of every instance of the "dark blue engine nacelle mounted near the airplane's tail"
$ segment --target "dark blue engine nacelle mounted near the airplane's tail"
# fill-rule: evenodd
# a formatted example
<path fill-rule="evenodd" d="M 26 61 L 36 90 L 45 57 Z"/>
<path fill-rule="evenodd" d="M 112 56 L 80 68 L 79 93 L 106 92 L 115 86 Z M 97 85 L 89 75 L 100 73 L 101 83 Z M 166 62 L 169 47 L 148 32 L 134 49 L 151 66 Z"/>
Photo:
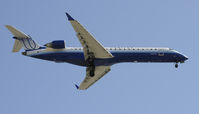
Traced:
<path fill-rule="evenodd" d="M 55 40 L 55 41 L 45 44 L 44 46 L 54 48 L 54 49 L 63 49 L 65 48 L 65 41 Z"/>

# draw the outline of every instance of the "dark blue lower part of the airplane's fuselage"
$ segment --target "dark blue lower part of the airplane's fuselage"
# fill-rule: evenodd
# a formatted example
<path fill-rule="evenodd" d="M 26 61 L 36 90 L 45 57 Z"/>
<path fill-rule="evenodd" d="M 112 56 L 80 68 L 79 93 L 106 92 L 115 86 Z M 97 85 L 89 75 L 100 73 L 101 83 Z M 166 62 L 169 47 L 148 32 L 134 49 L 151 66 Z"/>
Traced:
<path fill-rule="evenodd" d="M 110 66 L 122 62 L 184 62 L 186 57 L 176 52 L 131 52 L 131 51 L 111 51 L 113 58 L 95 58 L 95 66 Z M 31 55 L 31 57 L 54 61 L 66 62 L 79 66 L 87 66 L 83 51 L 73 52 L 48 52 Z"/>

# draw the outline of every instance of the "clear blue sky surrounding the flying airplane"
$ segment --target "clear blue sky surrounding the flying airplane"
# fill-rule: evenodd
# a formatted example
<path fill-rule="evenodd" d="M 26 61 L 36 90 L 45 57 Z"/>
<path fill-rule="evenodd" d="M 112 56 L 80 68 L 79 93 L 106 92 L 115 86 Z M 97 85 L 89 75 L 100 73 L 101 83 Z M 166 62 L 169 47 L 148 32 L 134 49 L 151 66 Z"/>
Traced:
<path fill-rule="evenodd" d="M 3 0 L 0 3 L 0 114 L 198 114 L 198 0 Z M 123 63 L 87 91 L 85 68 L 12 53 L 13 25 L 40 44 L 81 46 L 65 12 L 104 46 L 169 47 L 172 63 Z"/>

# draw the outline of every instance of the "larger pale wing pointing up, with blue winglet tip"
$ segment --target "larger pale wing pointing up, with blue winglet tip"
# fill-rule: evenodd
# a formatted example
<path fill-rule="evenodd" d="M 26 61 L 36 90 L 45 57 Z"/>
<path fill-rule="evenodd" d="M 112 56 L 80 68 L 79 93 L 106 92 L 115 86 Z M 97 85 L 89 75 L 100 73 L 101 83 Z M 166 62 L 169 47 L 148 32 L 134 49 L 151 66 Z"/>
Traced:
<path fill-rule="evenodd" d="M 112 58 L 112 54 L 107 51 L 95 38 L 76 20 L 74 20 L 68 13 L 66 13 L 68 20 L 72 24 L 77 33 L 77 37 L 83 47 L 84 57 L 88 58 L 90 53 L 94 54 L 95 58 Z"/>

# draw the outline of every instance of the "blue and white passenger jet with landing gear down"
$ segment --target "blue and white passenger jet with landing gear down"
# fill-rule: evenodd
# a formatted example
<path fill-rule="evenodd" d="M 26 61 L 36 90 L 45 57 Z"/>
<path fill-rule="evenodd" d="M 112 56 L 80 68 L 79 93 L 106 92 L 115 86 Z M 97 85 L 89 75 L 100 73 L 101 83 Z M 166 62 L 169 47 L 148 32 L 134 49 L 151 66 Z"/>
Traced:
<path fill-rule="evenodd" d="M 171 48 L 104 47 L 77 20 L 68 13 L 66 16 L 82 47 L 66 47 L 64 40 L 55 40 L 41 46 L 20 30 L 10 25 L 6 25 L 6 28 L 14 35 L 13 52 L 19 52 L 24 48 L 22 55 L 25 56 L 86 67 L 85 79 L 79 86 L 75 85 L 79 90 L 89 88 L 117 63 L 171 62 L 178 68 L 178 63 L 184 63 L 188 59 L 187 56 Z"/>

